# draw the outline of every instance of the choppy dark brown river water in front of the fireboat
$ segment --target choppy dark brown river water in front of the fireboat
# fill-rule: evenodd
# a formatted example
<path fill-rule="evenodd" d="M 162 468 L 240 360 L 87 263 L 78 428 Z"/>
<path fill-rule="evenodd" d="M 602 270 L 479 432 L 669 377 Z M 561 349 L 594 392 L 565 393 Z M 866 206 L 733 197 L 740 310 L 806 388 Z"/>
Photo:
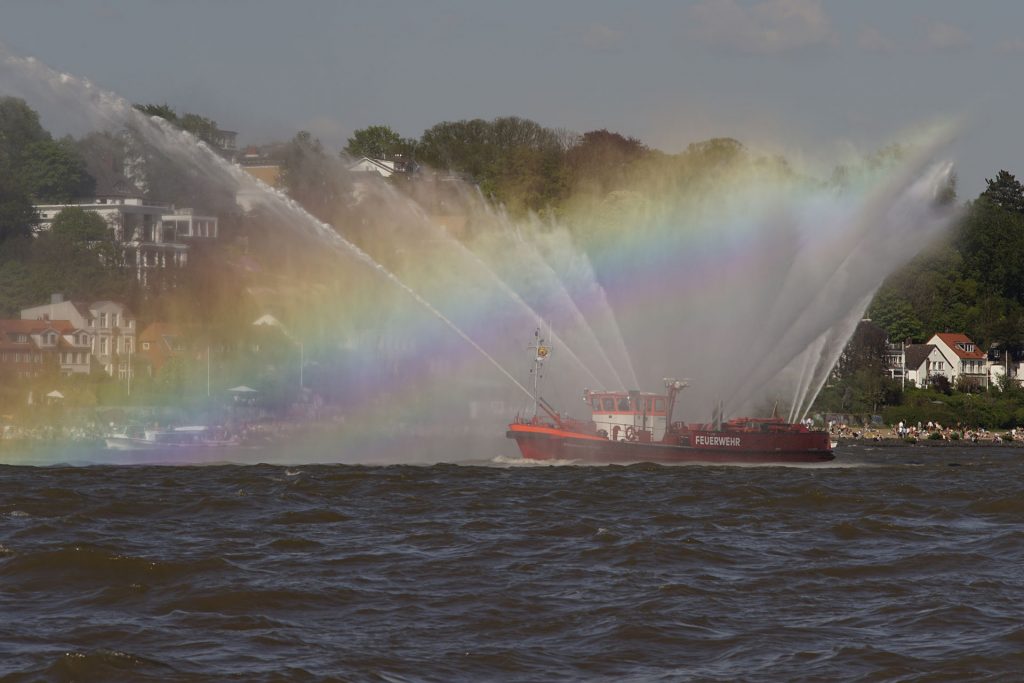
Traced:
<path fill-rule="evenodd" d="M 1022 457 L 0 467 L 0 680 L 1010 680 Z"/>

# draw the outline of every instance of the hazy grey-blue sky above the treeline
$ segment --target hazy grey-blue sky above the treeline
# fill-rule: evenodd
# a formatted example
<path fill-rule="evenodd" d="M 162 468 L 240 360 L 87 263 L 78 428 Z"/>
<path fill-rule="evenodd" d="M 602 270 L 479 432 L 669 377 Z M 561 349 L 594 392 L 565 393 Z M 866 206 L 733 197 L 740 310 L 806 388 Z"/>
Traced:
<path fill-rule="evenodd" d="M 827 172 L 954 120 L 962 197 L 1024 176 L 1022 27 L 1012 0 L 0 0 L 9 50 L 243 144 L 517 115 Z"/>

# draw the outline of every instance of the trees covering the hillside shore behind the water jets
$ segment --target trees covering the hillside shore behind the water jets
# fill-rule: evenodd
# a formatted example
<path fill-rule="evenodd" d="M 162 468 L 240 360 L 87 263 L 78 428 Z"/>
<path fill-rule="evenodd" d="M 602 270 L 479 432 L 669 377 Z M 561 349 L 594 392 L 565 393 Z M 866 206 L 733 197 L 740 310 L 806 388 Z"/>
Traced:
<path fill-rule="evenodd" d="M 167 104 L 137 109 L 197 135 L 210 143 L 217 123 L 195 114 L 179 114 Z M 777 155 L 756 153 L 732 138 L 714 138 L 688 145 L 677 154 L 654 150 L 641 140 L 608 130 L 583 134 L 546 128 L 518 117 L 446 121 L 418 138 L 407 138 L 385 125 L 356 130 L 341 151 L 330 152 L 305 131 L 287 142 L 265 145 L 282 167 L 284 188 L 323 220 L 338 224 L 337 204 L 350 190 L 340 173 L 350 158 L 402 159 L 416 166 L 465 178 L 482 195 L 512 215 L 532 212 L 563 216 L 580 206 L 607 202 L 609 197 L 669 197 L 674 193 L 722 191 L 737 168 L 757 169 L 794 182 L 842 184 L 855 170 L 837 168 L 828 179 L 799 176 Z M 864 160 L 865 167 L 898 159 L 898 146 Z M 398 175 L 399 188 L 415 178 Z M 893 340 L 925 341 L 934 332 L 965 332 L 982 346 L 998 343 L 1024 349 L 1024 186 L 1007 171 L 998 171 L 978 198 L 968 201 L 952 234 L 894 273 L 882 287 L 869 315 Z M 148 148 L 130 126 L 123 131 L 97 131 L 80 139 L 54 139 L 39 116 L 24 100 L 0 98 L 0 314 L 66 291 L 83 298 L 111 297 L 136 308 L 168 310 L 169 292 L 182 282 L 154 282 L 140 289 L 118 270 L 117 259 L 96 242 L 112 240 L 89 219 L 69 216 L 52 239 L 31 239 L 34 203 L 67 202 L 88 197 L 97 186 L 137 193 L 154 202 L 191 206 L 215 212 L 227 239 L 213 247 L 230 251 L 244 238 L 250 255 L 287 260 L 283 244 L 258 220 L 242 221 L 233 198 L 216 194 L 204 182 Z M 943 201 L 955 202 L 954 186 Z M 346 226 L 339 225 L 339 228 Z M 97 232 L 99 230 L 99 232 Z M 261 245 L 263 249 L 261 251 Z M 116 245 L 110 249 L 116 251 Z M 200 255 L 194 268 L 229 260 L 230 254 Z M 215 270 L 215 268 L 214 268 Z M 236 273 L 237 274 L 237 273 Z M 233 276 L 233 275 L 232 275 Z M 220 292 L 216 272 L 204 272 L 203 292 L 195 302 Z M 162 298 L 163 297 L 163 298 Z M 162 303 L 161 303 L 162 302 Z M 179 304 L 186 307 L 183 303 Z M 142 310 L 141 312 L 145 312 Z M 215 315 L 214 312 L 209 312 Z"/>

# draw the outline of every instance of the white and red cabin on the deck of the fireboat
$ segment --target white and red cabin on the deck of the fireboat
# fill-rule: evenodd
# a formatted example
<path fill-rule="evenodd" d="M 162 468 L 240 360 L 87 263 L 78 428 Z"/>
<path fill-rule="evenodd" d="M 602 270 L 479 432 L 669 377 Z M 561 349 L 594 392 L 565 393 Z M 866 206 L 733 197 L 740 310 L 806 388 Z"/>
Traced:
<path fill-rule="evenodd" d="M 642 391 L 590 391 L 583 399 L 590 403 L 591 419 L 614 441 L 659 441 L 669 425 L 669 398 Z M 649 436 L 648 436 L 649 434 Z"/>

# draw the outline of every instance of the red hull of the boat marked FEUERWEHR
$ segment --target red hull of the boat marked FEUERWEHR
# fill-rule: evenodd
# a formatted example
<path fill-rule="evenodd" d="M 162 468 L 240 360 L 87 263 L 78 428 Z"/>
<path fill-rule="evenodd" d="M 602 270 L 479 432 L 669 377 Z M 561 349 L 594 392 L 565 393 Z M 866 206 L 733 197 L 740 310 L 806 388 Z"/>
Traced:
<path fill-rule="evenodd" d="M 506 432 L 523 458 L 593 463 L 813 463 L 833 460 L 828 434 L 780 431 L 694 430 L 678 442 L 610 440 L 554 425 L 513 423 Z"/>

